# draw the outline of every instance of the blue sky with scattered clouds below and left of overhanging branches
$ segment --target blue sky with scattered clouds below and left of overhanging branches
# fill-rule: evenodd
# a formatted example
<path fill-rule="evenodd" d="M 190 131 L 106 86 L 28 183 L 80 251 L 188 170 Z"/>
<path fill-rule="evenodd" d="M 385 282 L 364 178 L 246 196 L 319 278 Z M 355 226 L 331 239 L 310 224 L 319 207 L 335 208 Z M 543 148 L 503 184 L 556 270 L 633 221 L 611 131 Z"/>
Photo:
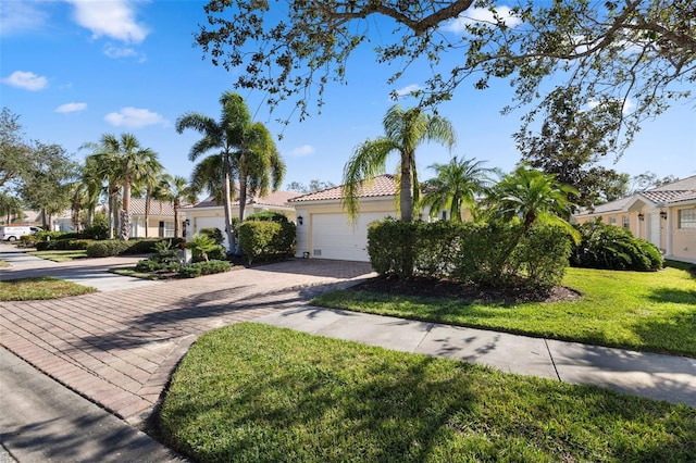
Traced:
<path fill-rule="evenodd" d="M 194 47 L 198 24 L 206 23 L 204 1 L 3 0 L 0 3 L 0 104 L 20 114 L 29 139 L 63 146 L 76 159 L 78 148 L 105 133 L 134 134 L 158 152 L 173 175 L 188 177 L 194 163 L 188 150 L 194 132 L 179 135 L 176 118 L 187 111 L 217 117 L 219 98 L 232 89 L 234 73 L 215 67 Z M 423 70 L 407 73 L 393 87 L 385 84 L 395 68 L 375 63 L 369 48 L 351 58 L 347 85 L 326 90 L 321 114 L 283 127 L 290 107 L 270 114 L 263 95 L 243 90 L 256 120 L 273 134 L 287 164 L 284 185 L 311 179 L 341 180 L 353 148 L 383 134 L 382 117 L 394 104 L 389 91 L 423 84 Z M 505 82 L 480 91 L 464 84 L 440 114 L 455 124 L 459 141 L 452 153 L 424 146 L 417 153 L 421 179 L 434 162 L 451 154 L 488 161 L 509 171 L 519 161 L 511 135 L 521 112 L 501 116 L 512 91 Z M 400 101 L 403 107 L 412 102 Z M 612 165 L 608 161 L 608 165 Z M 613 165 L 637 175 L 696 174 L 696 110 L 679 103 L 643 124 L 642 132 Z M 394 168 L 389 166 L 389 168 Z"/>

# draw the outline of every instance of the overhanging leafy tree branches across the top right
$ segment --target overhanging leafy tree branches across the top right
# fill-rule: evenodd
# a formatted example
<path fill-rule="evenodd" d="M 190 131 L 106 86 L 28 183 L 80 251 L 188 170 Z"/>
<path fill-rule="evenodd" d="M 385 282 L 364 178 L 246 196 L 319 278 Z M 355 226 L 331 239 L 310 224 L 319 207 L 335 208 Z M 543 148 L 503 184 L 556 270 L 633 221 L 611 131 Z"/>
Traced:
<path fill-rule="evenodd" d="M 311 99 L 321 107 L 328 83 L 345 83 L 349 58 L 366 43 L 395 66 L 389 84 L 415 62 L 433 70 L 414 91 L 424 105 L 464 82 L 485 89 L 507 78 L 515 99 L 504 111 L 539 99 L 544 107 L 554 76 L 614 117 L 621 137 L 613 136 L 624 141 L 617 151 L 644 117 L 689 97 L 696 80 L 692 0 L 211 0 L 204 11 L 208 24 L 196 34 L 203 53 L 238 70 L 236 86 L 265 91 L 271 105 L 295 99 L 300 118 Z M 631 113 L 611 111 L 627 105 Z"/>

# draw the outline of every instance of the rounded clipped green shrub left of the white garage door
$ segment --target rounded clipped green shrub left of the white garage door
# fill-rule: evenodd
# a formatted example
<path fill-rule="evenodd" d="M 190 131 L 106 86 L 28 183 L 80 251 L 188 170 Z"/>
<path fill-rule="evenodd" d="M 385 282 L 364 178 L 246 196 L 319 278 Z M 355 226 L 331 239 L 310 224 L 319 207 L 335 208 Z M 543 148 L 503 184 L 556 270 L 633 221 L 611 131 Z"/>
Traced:
<path fill-rule="evenodd" d="M 295 253 L 296 228 L 287 221 L 245 221 L 239 225 L 239 245 L 249 263 L 287 259 Z"/>

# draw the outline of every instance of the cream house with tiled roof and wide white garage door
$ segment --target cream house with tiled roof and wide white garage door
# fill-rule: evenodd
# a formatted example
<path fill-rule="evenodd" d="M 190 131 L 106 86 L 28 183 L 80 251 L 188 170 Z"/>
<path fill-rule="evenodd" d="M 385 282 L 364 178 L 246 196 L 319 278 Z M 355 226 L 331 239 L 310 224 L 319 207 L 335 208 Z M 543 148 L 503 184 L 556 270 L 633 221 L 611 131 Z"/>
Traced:
<path fill-rule="evenodd" d="M 397 217 L 397 183 L 381 175 L 359 190 L 360 213 L 350 222 L 343 208 L 344 187 L 333 187 L 291 199 L 297 211 L 297 256 L 370 260 L 368 225 L 387 216 Z"/>

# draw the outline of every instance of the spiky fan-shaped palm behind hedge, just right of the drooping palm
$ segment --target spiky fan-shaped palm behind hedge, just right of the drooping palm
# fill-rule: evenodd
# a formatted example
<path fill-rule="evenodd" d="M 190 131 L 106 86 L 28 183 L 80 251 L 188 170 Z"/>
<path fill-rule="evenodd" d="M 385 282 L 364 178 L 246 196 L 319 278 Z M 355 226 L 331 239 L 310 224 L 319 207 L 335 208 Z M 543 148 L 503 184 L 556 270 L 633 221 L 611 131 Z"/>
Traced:
<path fill-rule="evenodd" d="M 440 210 L 448 210 L 452 222 L 461 222 L 461 209 L 475 209 L 476 195 L 482 193 L 490 184 L 489 174 L 495 168 L 482 165 L 485 161 L 475 159 L 458 159 L 453 157 L 447 164 L 432 164 L 428 168 L 435 171 L 435 178 L 425 182 L 427 192 L 423 204 L 431 207 L 431 217 Z"/>

